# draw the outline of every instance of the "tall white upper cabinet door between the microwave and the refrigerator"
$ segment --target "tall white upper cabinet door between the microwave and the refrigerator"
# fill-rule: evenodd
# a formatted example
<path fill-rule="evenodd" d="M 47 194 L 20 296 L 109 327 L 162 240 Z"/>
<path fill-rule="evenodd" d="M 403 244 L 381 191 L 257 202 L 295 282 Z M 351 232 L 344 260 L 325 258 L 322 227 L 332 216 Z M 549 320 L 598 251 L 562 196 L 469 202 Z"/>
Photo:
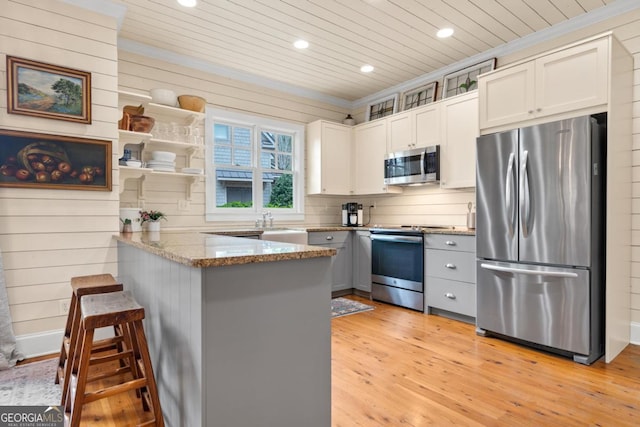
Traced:
<path fill-rule="evenodd" d="M 479 135 L 478 91 L 443 101 L 440 111 L 440 186 L 475 187 L 476 138 Z"/>

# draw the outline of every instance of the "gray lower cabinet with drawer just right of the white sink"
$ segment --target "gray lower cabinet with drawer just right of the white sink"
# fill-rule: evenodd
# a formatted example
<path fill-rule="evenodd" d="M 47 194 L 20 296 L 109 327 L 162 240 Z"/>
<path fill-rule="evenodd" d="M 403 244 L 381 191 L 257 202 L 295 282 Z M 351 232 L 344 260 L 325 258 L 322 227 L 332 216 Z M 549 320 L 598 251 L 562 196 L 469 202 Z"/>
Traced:
<path fill-rule="evenodd" d="M 350 231 L 312 231 L 309 244 L 334 248 L 337 254 L 332 264 L 332 291 L 353 288 L 353 237 Z"/>

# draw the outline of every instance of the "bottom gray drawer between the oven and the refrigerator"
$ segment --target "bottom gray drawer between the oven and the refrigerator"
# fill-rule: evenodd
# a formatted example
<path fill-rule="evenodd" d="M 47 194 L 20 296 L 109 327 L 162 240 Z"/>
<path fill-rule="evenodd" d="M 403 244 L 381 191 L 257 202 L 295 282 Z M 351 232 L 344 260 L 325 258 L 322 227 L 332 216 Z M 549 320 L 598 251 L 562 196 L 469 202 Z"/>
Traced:
<path fill-rule="evenodd" d="M 476 287 L 470 283 L 429 277 L 425 283 L 427 307 L 476 317 Z"/>

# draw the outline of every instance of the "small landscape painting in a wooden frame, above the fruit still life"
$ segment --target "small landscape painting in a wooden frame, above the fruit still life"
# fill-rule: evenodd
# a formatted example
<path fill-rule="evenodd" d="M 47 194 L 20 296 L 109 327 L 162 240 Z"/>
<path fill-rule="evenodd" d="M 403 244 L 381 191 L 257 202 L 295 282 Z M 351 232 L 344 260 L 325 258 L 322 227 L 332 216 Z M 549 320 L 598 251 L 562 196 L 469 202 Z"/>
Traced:
<path fill-rule="evenodd" d="M 7 55 L 7 112 L 91 123 L 91 73 Z"/>

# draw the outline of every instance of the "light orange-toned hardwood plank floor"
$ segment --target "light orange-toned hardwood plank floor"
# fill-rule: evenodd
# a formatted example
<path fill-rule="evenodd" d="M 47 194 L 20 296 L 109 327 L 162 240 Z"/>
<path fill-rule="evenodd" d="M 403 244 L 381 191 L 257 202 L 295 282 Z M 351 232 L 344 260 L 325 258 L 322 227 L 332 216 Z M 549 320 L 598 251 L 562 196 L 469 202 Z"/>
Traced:
<path fill-rule="evenodd" d="M 640 346 L 584 366 L 478 337 L 470 324 L 349 298 L 375 309 L 331 321 L 333 427 L 639 424 Z M 131 392 L 90 404 L 82 419 L 128 426 L 147 415 Z"/>

